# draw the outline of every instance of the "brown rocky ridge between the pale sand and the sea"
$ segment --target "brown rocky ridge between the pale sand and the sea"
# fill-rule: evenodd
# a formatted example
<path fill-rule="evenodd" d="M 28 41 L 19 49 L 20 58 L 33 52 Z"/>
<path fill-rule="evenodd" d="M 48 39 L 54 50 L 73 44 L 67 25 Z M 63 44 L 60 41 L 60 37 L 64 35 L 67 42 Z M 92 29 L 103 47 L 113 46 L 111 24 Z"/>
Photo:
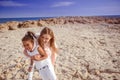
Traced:
<path fill-rule="evenodd" d="M 108 23 L 120 24 L 120 18 L 108 17 L 58 17 L 49 18 L 37 21 L 17 22 L 11 21 L 0 24 L 0 30 L 16 30 L 18 28 L 41 27 L 49 25 L 64 25 L 64 24 L 94 24 L 94 23 Z"/>

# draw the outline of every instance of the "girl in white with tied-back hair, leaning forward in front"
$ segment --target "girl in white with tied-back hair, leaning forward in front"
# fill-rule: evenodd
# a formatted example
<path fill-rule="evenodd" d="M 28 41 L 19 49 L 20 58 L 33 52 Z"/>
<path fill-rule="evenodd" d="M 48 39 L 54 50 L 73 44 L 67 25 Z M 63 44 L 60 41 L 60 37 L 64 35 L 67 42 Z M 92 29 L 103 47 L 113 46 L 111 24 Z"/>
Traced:
<path fill-rule="evenodd" d="M 44 49 L 37 45 L 35 35 L 32 32 L 27 32 L 23 37 L 22 42 L 25 48 L 25 53 L 27 53 L 31 59 L 30 67 L 28 69 L 28 80 L 32 80 L 32 69 L 34 65 L 39 71 L 42 80 L 57 80 L 51 59 L 48 57 Z"/>

